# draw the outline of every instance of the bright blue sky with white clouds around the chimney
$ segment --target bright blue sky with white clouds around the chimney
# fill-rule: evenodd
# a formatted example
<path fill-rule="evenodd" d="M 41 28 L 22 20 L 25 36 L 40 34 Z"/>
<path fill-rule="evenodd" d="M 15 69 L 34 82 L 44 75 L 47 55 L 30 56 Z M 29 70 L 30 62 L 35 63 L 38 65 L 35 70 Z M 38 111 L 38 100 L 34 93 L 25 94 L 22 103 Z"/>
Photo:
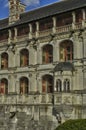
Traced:
<path fill-rule="evenodd" d="M 4 19 L 9 16 L 9 0 L 0 0 L 0 19 Z M 26 11 L 39 8 L 41 6 L 46 6 L 60 0 L 21 0 L 22 3 L 26 5 Z"/>

